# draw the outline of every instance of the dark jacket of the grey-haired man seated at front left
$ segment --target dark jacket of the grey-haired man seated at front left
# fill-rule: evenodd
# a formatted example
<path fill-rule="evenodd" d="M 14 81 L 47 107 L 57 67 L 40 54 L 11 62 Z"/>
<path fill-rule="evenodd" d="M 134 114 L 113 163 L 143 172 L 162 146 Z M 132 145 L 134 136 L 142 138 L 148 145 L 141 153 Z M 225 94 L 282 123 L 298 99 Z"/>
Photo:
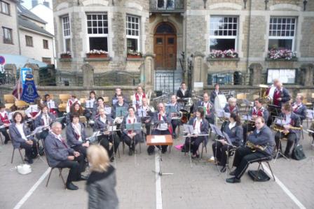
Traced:
<path fill-rule="evenodd" d="M 71 149 L 65 141 L 64 143 L 67 147 L 65 147 L 64 144 L 52 133 L 48 134 L 43 143 L 45 145 L 45 152 L 49 166 L 55 167 L 60 162 L 67 161 L 69 154 L 74 153 L 74 150 Z"/>

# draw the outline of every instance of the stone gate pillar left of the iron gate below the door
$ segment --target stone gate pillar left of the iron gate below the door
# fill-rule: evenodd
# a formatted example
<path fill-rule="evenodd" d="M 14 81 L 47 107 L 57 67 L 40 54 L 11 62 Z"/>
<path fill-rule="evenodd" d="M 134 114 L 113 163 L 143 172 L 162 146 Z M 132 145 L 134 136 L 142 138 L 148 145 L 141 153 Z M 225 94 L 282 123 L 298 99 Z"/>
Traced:
<path fill-rule="evenodd" d="M 153 73 L 155 72 L 155 55 L 146 53 L 144 56 L 144 67 L 141 70 L 141 83 L 145 86 L 145 91 L 153 91 Z"/>

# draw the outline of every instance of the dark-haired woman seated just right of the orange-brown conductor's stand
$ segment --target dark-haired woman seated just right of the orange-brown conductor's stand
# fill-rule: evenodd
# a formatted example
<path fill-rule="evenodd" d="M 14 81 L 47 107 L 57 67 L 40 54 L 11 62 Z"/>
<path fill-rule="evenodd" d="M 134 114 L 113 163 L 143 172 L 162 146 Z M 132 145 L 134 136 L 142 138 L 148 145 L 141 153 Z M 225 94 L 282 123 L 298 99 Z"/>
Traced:
<path fill-rule="evenodd" d="M 189 120 L 189 124 L 193 125 L 193 134 L 191 137 L 186 137 L 184 143 L 184 149 L 189 150 L 190 140 L 191 140 L 191 153 L 192 158 L 198 158 L 198 147 L 200 143 L 207 144 L 208 136 L 198 136 L 200 134 L 208 134 L 208 122 L 204 120 L 204 108 L 197 108 L 196 116 Z"/>

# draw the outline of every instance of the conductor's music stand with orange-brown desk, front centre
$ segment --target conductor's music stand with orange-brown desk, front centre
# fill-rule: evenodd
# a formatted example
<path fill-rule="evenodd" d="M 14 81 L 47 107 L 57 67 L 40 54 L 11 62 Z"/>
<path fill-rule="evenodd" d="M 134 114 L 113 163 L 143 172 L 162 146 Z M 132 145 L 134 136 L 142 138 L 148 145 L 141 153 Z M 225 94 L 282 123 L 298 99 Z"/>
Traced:
<path fill-rule="evenodd" d="M 162 145 L 172 145 L 173 140 L 171 135 L 149 135 L 147 136 L 147 145 L 153 145 L 158 147 L 158 161 L 159 161 L 159 171 L 153 171 L 153 173 L 156 173 L 160 176 L 162 175 L 173 175 L 173 173 L 163 173 L 161 170 L 161 161 L 163 159 L 161 158 L 161 146 Z"/>

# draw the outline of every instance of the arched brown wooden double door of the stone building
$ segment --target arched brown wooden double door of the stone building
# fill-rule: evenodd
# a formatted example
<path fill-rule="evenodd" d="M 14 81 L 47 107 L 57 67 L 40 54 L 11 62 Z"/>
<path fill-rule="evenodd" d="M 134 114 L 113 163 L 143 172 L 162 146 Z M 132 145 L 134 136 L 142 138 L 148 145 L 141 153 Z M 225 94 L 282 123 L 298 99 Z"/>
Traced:
<path fill-rule="evenodd" d="M 169 22 L 158 24 L 153 36 L 156 70 L 175 70 L 177 66 L 177 36 Z"/>

